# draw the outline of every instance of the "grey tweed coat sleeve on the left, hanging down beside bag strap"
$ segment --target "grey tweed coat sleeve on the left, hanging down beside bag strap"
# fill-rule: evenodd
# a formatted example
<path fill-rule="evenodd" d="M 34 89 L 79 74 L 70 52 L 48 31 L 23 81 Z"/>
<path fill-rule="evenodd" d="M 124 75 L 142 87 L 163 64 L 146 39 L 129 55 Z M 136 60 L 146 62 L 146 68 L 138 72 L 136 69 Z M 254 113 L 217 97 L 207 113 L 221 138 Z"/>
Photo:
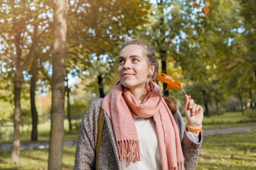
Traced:
<path fill-rule="evenodd" d="M 93 101 L 84 113 L 76 145 L 74 170 L 95 169 L 98 121 L 101 104 L 102 99 Z"/>

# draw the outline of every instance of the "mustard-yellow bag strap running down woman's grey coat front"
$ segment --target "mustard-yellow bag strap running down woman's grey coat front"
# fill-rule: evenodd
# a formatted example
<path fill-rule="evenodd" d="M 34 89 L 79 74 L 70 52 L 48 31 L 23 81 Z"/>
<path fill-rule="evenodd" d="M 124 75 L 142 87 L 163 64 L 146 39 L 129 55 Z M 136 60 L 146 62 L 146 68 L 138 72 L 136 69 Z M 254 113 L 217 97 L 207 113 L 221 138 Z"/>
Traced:
<path fill-rule="evenodd" d="M 97 137 L 97 145 L 96 145 L 96 170 L 98 167 L 98 159 L 99 159 L 99 145 L 102 139 L 102 130 L 104 125 L 104 117 L 103 117 L 103 109 L 101 108 L 99 113 L 99 122 L 98 122 L 98 137 Z"/>

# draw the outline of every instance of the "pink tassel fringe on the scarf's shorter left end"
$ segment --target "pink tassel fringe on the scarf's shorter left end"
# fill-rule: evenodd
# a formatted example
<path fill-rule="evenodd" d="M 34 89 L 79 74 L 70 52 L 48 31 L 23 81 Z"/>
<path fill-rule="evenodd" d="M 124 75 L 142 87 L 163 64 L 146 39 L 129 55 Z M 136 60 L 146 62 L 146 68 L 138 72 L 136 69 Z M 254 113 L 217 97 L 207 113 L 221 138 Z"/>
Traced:
<path fill-rule="evenodd" d="M 120 160 L 127 159 L 128 164 L 140 161 L 140 142 L 135 140 L 121 140 L 117 142 Z"/>

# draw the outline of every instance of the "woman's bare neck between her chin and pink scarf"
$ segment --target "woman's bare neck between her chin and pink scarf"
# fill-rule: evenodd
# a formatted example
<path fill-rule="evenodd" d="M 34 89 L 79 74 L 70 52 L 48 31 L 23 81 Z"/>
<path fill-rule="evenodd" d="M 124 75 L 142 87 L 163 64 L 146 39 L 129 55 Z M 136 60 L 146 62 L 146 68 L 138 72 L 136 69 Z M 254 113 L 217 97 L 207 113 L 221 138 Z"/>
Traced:
<path fill-rule="evenodd" d="M 147 85 L 145 85 L 144 87 L 142 86 L 142 87 L 136 87 L 136 88 L 129 88 L 129 91 L 131 92 L 132 95 L 134 95 L 138 105 L 140 105 L 148 95 Z"/>

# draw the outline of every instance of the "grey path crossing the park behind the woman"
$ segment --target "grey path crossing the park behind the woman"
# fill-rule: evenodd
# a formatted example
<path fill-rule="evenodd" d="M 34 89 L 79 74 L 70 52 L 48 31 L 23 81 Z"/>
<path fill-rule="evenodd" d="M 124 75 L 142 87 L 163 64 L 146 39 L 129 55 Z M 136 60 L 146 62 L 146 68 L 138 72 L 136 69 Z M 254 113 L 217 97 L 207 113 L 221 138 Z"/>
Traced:
<path fill-rule="evenodd" d="M 232 127 L 226 129 L 212 129 L 212 130 L 204 130 L 203 135 L 213 135 L 216 133 L 234 133 L 234 132 L 244 132 L 252 129 L 256 129 L 256 126 L 248 126 L 248 127 Z M 64 141 L 64 146 L 76 146 L 77 141 Z M 44 149 L 49 148 L 49 143 L 33 143 L 33 144 L 21 144 L 20 150 L 26 149 Z M 11 150 L 12 144 L 2 144 L 0 145 L 1 150 Z"/>

